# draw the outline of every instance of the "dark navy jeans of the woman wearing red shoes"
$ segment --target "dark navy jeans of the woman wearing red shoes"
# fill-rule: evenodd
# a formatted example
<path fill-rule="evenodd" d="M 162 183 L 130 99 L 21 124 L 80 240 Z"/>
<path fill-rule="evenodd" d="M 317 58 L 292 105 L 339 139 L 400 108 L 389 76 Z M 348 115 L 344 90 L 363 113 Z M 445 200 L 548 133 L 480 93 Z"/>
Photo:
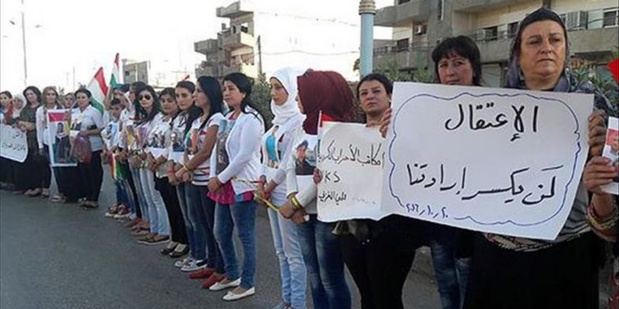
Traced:
<path fill-rule="evenodd" d="M 207 196 L 208 188 L 205 185 L 189 185 L 189 218 L 191 220 L 200 220 L 193 222 L 194 239 L 196 244 L 201 242 L 200 248 L 196 249 L 198 254 L 202 254 L 200 258 L 196 254 L 199 260 L 206 260 L 208 268 L 214 268 L 218 274 L 223 274 L 224 261 L 222 258 L 222 251 L 217 246 L 215 240 L 215 201 Z M 198 233 L 201 233 L 198 235 Z M 199 240 L 198 240 L 199 239 Z M 208 252 L 205 252 L 205 245 L 208 248 Z"/>

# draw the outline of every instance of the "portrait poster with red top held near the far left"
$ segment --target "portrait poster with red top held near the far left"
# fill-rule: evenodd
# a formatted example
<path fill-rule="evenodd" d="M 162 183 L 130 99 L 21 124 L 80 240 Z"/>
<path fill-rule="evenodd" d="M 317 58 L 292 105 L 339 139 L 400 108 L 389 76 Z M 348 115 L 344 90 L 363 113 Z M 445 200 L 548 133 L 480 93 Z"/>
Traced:
<path fill-rule="evenodd" d="M 71 110 L 48 110 L 49 162 L 51 166 L 77 166 L 71 156 Z"/>

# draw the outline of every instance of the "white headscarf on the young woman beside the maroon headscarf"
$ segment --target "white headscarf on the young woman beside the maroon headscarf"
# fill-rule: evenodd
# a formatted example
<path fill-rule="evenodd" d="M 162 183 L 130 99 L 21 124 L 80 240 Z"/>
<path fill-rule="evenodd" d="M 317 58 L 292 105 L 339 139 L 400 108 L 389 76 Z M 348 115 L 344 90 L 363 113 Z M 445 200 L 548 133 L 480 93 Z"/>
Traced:
<path fill-rule="evenodd" d="M 298 94 L 297 77 L 302 75 L 305 70 L 299 67 L 284 67 L 273 73 L 274 79 L 277 79 L 281 86 L 286 89 L 288 99 L 282 105 L 276 105 L 274 100 L 271 100 L 271 111 L 275 115 L 273 124 L 283 125 L 290 119 L 303 117 L 296 102 Z"/>

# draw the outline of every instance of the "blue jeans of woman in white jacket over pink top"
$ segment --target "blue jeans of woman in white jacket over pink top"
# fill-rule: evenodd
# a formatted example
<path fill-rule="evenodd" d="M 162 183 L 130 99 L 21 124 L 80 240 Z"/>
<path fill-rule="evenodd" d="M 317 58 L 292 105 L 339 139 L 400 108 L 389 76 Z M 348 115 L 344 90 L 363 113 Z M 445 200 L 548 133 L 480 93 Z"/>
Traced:
<path fill-rule="evenodd" d="M 217 203 L 215 207 L 215 238 L 222 249 L 224 264 L 226 265 L 226 278 L 237 280 L 238 262 L 232 232 L 236 227 L 238 238 L 243 246 L 243 273 L 241 287 L 250 289 L 254 287 L 254 275 L 256 272 L 256 202 L 238 202 L 224 205 Z"/>

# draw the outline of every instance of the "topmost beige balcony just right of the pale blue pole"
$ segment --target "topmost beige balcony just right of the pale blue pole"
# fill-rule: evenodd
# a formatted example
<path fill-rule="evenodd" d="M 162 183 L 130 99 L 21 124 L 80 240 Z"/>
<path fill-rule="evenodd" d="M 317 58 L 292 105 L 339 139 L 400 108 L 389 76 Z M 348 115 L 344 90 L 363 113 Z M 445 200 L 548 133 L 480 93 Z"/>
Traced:
<path fill-rule="evenodd" d="M 397 6 L 386 6 L 376 11 L 374 25 L 399 27 L 411 22 L 424 22 L 430 15 L 430 0 L 411 0 Z"/>

